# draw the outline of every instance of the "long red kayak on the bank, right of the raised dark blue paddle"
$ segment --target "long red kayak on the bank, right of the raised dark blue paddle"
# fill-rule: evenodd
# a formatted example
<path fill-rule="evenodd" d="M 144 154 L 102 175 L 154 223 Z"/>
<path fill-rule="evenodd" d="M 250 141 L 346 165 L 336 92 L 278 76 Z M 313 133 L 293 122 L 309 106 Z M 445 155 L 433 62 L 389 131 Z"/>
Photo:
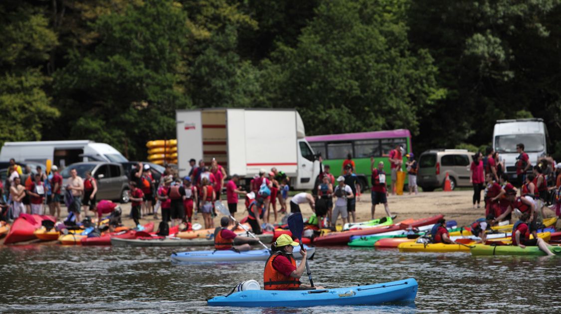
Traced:
<path fill-rule="evenodd" d="M 435 224 L 440 218 L 443 218 L 443 215 L 436 215 L 430 218 L 425 219 L 418 219 L 415 221 L 404 223 L 397 223 L 394 225 L 384 226 L 384 227 L 376 227 L 376 228 L 367 228 L 367 229 L 358 229 L 358 230 L 350 230 L 350 231 L 343 231 L 343 232 L 330 232 L 325 236 L 320 236 L 314 239 L 315 245 L 344 245 L 350 242 L 351 236 L 366 236 L 368 234 L 378 234 L 383 232 L 390 232 L 390 231 L 397 231 L 403 230 L 410 227 L 422 227 L 424 225 L 431 225 Z"/>

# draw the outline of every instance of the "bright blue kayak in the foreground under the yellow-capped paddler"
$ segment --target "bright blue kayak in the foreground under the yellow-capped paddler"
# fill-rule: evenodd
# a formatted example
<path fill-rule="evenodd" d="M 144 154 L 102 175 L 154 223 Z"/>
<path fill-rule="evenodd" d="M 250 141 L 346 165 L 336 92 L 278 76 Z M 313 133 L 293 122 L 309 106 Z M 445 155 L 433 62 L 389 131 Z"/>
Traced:
<path fill-rule="evenodd" d="M 415 300 L 417 280 L 413 278 L 383 284 L 325 290 L 247 290 L 214 297 L 209 306 L 312 307 L 329 305 L 376 305 Z"/>

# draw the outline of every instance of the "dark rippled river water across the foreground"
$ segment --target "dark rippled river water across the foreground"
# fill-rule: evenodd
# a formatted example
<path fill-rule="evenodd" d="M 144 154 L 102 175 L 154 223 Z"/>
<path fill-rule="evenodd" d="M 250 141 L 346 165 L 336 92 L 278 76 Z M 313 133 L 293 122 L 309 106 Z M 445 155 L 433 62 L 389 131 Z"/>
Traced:
<path fill-rule="evenodd" d="M 172 252 L 0 247 L 0 312 L 561 312 L 560 257 L 319 247 L 310 261 L 316 284 L 346 287 L 413 277 L 419 281 L 415 304 L 287 310 L 207 307 L 206 299 L 229 293 L 243 280 L 261 283 L 264 262 L 176 265 L 169 261 Z"/>

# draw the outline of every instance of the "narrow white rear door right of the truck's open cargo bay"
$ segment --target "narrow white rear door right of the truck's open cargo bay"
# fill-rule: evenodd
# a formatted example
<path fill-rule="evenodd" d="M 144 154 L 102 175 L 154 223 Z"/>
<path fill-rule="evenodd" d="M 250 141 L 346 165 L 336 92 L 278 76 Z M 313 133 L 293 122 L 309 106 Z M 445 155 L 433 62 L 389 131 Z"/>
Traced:
<path fill-rule="evenodd" d="M 228 109 L 228 173 L 247 176 L 245 110 Z"/>

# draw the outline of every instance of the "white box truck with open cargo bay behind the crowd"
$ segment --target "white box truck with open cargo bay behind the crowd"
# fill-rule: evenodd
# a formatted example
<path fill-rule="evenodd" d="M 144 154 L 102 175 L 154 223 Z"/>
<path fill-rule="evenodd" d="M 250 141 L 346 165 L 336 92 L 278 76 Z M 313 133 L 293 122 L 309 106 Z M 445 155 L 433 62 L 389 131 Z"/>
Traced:
<path fill-rule="evenodd" d="M 180 176 L 188 160 L 212 158 L 249 182 L 259 169 L 272 167 L 291 178 L 295 190 L 311 190 L 319 161 L 305 140 L 304 123 L 295 109 L 177 110 L 177 155 Z"/>

